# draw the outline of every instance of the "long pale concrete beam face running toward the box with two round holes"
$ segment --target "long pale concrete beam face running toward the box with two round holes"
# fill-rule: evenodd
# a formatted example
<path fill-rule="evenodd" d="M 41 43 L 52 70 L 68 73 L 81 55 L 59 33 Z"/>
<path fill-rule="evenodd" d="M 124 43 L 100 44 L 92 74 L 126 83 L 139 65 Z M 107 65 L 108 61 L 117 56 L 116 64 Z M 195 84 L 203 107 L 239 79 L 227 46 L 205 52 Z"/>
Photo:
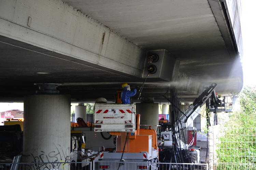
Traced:
<path fill-rule="evenodd" d="M 0 35 L 142 77 L 145 50 L 60 0 L 2 0 Z"/>

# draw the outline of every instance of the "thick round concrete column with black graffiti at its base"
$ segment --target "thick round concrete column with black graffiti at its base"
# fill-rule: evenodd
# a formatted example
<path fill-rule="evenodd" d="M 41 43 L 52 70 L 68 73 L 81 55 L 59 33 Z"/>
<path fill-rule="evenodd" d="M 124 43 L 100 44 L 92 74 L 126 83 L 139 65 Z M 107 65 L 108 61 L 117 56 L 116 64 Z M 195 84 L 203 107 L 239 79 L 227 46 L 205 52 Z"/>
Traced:
<path fill-rule="evenodd" d="M 25 96 L 23 162 L 70 162 L 70 103 L 68 95 Z M 39 165 L 30 168 L 69 168 L 63 164 Z"/>

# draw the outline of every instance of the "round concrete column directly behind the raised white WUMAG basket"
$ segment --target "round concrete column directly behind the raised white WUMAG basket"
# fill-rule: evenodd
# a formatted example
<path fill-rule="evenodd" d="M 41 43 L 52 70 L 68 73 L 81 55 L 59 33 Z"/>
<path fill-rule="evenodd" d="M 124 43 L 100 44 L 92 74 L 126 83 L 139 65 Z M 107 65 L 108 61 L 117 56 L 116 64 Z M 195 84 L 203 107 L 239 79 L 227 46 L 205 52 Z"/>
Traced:
<path fill-rule="evenodd" d="M 157 130 L 158 125 L 158 103 L 136 103 L 136 114 L 140 114 L 140 124 L 152 125 Z M 146 126 L 140 126 L 140 129 Z M 148 129 L 148 128 L 147 128 Z"/>

